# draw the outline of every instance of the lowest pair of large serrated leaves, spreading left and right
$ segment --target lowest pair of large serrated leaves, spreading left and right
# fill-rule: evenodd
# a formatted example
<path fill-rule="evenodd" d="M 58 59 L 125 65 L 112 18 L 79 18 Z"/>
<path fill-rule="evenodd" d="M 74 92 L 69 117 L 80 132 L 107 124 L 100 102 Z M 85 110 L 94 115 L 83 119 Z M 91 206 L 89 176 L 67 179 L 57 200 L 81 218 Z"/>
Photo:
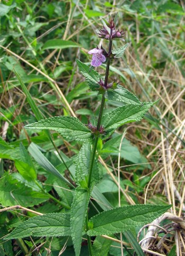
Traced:
<path fill-rule="evenodd" d="M 85 195 L 85 193 L 83 193 Z M 87 194 L 86 194 L 87 195 Z M 80 206 L 81 196 L 76 202 Z M 135 206 L 124 206 L 104 211 L 90 219 L 91 229 L 87 234 L 110 235 L 124 232 L 137 226 L 150 223 L 170 209 L 171 206 L 161 206 L 155 204 L 137 204 Z M 79 211 L 80 212 L 80 211 Z M 78 216 L 79 217 L 79 216 Z M 81 217 L 79 217 L 81 219 Z M 8 234 L 4 239 L 14 239 L 27 236 L 70 236 L 70 215 L 61 213 L 46 214 L 25 220 L 18 227 Z M 84 234 L 84 232 L 83 232 Z M 73 234 L 72 234 L 73 235 Z"/>

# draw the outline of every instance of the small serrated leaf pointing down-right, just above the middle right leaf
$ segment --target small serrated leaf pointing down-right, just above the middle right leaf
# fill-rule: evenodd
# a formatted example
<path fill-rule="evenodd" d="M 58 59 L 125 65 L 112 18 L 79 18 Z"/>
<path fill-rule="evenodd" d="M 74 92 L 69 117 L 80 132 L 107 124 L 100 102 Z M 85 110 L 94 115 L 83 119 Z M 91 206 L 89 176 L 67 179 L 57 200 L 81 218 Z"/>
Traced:
<path fill-rule="evenodd" d="M 128 105 L 142 105 L 140 100 L 131 92 L 118 84 L 116 89 L 108 89 L 104 97 L 109 100 L 122 101 Z"/>

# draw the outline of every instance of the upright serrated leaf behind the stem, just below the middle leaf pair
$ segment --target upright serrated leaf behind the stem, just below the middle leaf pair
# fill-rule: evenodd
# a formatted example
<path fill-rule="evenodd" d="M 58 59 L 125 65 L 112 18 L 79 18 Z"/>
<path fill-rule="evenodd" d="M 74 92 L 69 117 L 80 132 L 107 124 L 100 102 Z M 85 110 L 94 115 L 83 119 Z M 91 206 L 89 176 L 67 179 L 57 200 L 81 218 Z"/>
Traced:
<path fill-rule="evenodd" d="M 76 158 L 76 184 L 80 185 L 82 181 L 85 181 L 89 175 L 90 163 L 91 163 L 91 145 L 83 144 L 77 158 Z M 92 182 L 98 184 L 100 181 L 99 168 L 96 159 L 94 159 Z"/>

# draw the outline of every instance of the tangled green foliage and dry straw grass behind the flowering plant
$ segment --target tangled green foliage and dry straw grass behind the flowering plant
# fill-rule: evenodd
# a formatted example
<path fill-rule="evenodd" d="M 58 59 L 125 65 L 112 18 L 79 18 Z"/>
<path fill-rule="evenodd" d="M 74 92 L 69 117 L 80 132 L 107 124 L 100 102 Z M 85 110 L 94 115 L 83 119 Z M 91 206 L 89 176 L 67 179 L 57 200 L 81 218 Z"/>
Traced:
<path fill-rule="evenodd" d="M 119 27 L 127 31 L 126 43 L 130 43 L 124 57 L 119 58 L 119 62 L 115 60 L 110 67 L 111 81 L 119 77 L 120 84 L 139 95 L 141 101 L 161 100 L 145 115 L 142 125 L 139 122 L 127 124 L 119 128 L 111 140 L 99 143 L 98 152 L 104 165 L 98 163 L 101 181 L 98 191 L 93 192 L 93 204 L 99 211 L 118 206 L 120 166 L 122 206 L 172 203 L 172 213 L 183 216 L 185 26 L 183 3 L 175 0 L 1 2 L 2 209 L 20 204 L 49 214 L 64 213 L 71 207 L 72 190 L 53 174 L 58 170 L 69 181 L 73 180 L 73 175 L 66 172 L 48 134 L 23 129 L 25 124 L 36 122 L 37 116 L 13 69 L 21 75 L 44 117 L 76 115 L 85 124 L 89 118 L 95 120 L 100 98 L 96 92 L 89 91 L 75 60 L 90 64 L 91 56 L 87 52 L 102 43 L 95 30 L 102 27 L 101 17 L 110 12 L 118 12 Z M 115 48 L 123 45 L 120 41 L 114 44 Z M 100 69 L 100 72 L 104 71 Z M 117 106 L 121 107 L 122 103 L 109 101 L 104 113 Z M 58 133 L 52 135 L 67 167 L 75 174 L 76 154 L 82 143 L 64 139 Z M 91 206 L 90 217 L 94 213 L 95 208 Z M 36 214 L 30 211 L 3 211 L 0 237 L 33 216 Z M 168 255 L 176 243 L 179 253 L 184 252 L 184 233 L 173 225 L 170 227 L 170 240 L 164 240 L 164 245 L 157 250 Z M 134 230 L 133 234 L 137 232 Z M 105 244 L 105 248 L 111 245 L 109 255 L 120 255 L 118 243 L 102 239 L 94 243 L 94 251 L 100 243 Z M 124 241 L 129 243 L 128 236 Z M 30 236 L 24 240 L 17 238 L 13 243 L 1 240 L 0 254 L 58 255 L 66 245 L 63 255 L 74 255 L 71 238 Z M 83 245 L 81 254 L 87 255 L 85 241 Z M 153 245 L 156 249 L 157 242 L 153 241 Z M 124 253 L 128 254 L 126 250 Z"/>

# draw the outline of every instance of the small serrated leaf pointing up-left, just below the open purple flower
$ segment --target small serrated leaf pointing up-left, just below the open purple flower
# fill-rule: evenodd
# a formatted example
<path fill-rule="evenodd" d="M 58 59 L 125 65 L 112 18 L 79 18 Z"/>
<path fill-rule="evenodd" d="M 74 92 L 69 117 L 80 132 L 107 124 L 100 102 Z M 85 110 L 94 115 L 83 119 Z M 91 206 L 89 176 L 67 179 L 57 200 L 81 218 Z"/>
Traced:
<path fill-rule="evenodd" d="M 80 72 L 85 76 L 86 81 L 92 91 L 96 91 L 100 86 L 98 82 L 100 81 L 101 76 L 95 70 L 90 71 L 90 67 L 76 59 L 76 63 Z"/>

